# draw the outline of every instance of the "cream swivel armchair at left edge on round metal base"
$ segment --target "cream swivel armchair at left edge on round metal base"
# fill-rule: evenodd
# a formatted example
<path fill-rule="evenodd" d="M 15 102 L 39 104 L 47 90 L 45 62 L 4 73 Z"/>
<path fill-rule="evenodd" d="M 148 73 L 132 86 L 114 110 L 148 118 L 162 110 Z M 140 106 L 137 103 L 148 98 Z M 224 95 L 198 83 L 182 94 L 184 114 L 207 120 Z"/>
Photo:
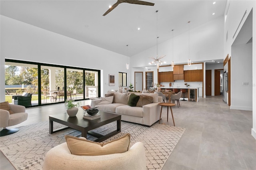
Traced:
<path fill-rule="evenodd" d="M 10 114 L 9 111 L 0 109 L 0 127 L 4 128 L 0 132 L 0 136 L 6 136 L 18 132 L 18 128 L 7 129 L 13 125 L 18 125 L 28 119 L 28 113 L 25 113 L 26 108 L 22 105 L 12 105 L 10 104 L 13 114 Z"/>

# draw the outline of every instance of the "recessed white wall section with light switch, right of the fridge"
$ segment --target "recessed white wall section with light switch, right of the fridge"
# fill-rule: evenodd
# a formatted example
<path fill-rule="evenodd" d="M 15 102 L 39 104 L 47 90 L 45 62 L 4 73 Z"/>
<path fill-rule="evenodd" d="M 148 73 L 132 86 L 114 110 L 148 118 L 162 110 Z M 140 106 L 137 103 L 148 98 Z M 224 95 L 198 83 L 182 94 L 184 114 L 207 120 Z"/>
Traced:
<path fill-rule="evenodd" d="M 252 111 L 252 43 L 232 46 L 231 65 L 230 108 Z"/>

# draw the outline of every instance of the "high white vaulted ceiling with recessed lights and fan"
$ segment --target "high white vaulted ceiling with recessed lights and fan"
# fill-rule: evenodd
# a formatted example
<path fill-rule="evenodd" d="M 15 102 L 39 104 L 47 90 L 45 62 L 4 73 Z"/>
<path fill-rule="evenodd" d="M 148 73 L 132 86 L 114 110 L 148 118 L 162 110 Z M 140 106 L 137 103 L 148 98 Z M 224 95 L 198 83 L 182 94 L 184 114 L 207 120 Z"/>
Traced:
<path fill-rule="evenodd" d="M 188 31 L 188 21 L 191 21 L 192 29 L 223 16 L 226 6 L 226 0 L 146 1 L 155 5 L 122 3 L 102 16 L 116 0 L 1 0 L 0 13 L 45 30 L 132 56 L 156 45 L 156 35 L 159 36 L 158 43 L 161 43 L 172 37 L 172 29 L 175 30 L 174 36 Z"/>

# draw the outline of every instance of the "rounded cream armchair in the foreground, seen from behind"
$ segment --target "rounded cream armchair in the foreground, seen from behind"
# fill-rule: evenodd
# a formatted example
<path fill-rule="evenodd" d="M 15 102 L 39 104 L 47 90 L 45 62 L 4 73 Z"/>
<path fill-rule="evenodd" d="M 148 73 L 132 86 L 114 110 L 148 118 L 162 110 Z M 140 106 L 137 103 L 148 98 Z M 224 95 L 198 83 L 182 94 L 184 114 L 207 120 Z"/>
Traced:
<path fill-rule="evenodd" d="M 67 143 L 59 144 L 45 156 L 43 170 L 146 170 L 146 154 L 142 142 L 136 142 L 124 153 L 100 156 L 71 154 Z"/>

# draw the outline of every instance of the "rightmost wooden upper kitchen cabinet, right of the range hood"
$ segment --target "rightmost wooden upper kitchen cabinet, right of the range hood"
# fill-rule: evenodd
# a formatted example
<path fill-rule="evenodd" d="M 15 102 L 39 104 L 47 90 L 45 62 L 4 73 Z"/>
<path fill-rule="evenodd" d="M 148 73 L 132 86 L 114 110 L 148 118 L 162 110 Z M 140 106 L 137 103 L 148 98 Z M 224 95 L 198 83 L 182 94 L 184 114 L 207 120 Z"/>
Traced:
<path fill-rule="evenodd" d="M 184 81 L 204 81 L 203 70 L 186 70 L 184 71 Z"/>

